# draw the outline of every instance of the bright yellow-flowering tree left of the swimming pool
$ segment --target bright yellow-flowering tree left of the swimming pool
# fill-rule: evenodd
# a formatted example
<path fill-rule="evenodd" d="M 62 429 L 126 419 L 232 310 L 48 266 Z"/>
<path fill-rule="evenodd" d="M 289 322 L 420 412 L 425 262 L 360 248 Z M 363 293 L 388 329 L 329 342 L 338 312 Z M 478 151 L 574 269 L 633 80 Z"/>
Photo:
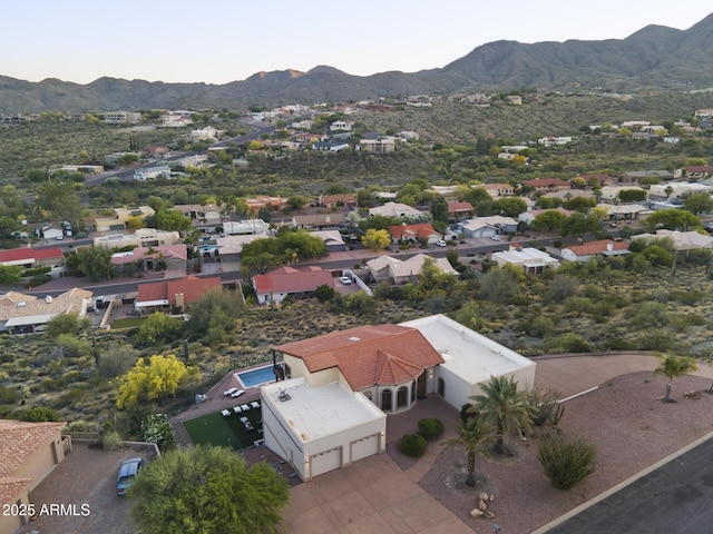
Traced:
<path fill-rule="evenodd" d="M 175 395 L 178 387 L 197 376 L 197 368 L 186 366 L 174 355 L 152 356 L 148 365 L 140 358 L 131 370 L 117 380 L 119 394 L 116 405 L 124 409 L 144 398 L 153 400 L 164 395 Z"/>

